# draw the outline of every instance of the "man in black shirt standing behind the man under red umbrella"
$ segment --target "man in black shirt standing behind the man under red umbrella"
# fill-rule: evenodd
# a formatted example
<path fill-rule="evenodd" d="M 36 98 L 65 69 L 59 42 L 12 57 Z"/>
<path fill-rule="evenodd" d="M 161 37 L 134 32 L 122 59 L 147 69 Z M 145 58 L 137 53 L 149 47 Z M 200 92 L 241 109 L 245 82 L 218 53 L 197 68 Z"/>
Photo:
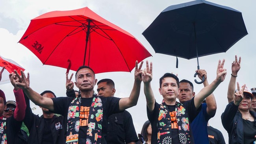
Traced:
<path fill-rule="evenodd" d="M 115 83 L 112 79 L 101 79 L 97 86 L 98 96 L 114 97 Z M 135 144 L 137 141 L 132 116 L 128 111 L 108 117 L 108 144 Z"/>

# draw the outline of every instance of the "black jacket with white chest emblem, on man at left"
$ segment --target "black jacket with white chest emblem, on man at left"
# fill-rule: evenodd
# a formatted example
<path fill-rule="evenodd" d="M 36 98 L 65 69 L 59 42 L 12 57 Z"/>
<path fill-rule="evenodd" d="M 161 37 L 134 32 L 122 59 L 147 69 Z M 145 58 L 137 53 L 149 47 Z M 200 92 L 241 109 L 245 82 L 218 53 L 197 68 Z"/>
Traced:
<path fill-rule="evenodd" d="M 54 115 L 53 118 L 44 118 L 33 114 L 30 108 L 30 100 L 24 94 L 26 100 L 26 114 L 24 124 L 28 127 L 30 136 L 28 144 L 64 144 L 66 129 L 63 127 L 64 117 Z"/>

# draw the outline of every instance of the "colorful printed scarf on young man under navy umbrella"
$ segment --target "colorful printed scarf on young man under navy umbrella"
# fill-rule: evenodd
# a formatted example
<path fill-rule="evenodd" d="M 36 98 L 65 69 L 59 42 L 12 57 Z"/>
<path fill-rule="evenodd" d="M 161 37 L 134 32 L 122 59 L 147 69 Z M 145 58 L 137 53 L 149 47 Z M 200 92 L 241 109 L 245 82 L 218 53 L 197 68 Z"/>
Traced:
<path fill-rule="evenodd" d="M 158 116 L 158 144 L 172 144 L 171 116 L 164 100 L 160 104 Z M 178 135 L 181 144 L 190 144 L 189 120 L 186 109 L 179 102 L 175 104 L 176 120 L 178 124 Z M 170 128 L 169 128 L 170 127 Z"/>

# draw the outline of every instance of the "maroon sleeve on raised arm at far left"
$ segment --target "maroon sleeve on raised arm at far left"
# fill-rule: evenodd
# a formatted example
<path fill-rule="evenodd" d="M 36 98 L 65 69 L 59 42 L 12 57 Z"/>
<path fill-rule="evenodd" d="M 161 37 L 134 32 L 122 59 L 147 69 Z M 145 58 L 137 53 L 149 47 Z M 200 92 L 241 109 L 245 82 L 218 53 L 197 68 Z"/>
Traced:
<path fill-rule="evenodd" d="M 22 89 L 14 90 L 15 100 L 16 100 L 16 108 L 13 113 L 15 120 L 22 121 L 25 117 L 25 110 L 26 110 L 26 102 L 24 99 Z"/>

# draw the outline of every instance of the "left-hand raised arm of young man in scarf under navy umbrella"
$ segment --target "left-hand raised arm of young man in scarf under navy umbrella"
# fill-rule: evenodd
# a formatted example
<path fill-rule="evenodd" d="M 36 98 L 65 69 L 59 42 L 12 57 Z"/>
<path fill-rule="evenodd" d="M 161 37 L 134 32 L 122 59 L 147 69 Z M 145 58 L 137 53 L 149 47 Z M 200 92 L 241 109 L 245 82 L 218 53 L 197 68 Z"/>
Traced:
<path fill-rule="evenodd" d="M 150 63 L 150 66 L 148 65 L 148 61 L 146 62 L 146 68 L 142 71 L 142 80 L 144 83 L 144 94 L 146 96 L 147 101 L 147 107 L 149 112 L 152 112 L 154 110 L 155 105 L 155 97 L 150 85 L 150 82 L 152 81 L 152 62 Z"/>

